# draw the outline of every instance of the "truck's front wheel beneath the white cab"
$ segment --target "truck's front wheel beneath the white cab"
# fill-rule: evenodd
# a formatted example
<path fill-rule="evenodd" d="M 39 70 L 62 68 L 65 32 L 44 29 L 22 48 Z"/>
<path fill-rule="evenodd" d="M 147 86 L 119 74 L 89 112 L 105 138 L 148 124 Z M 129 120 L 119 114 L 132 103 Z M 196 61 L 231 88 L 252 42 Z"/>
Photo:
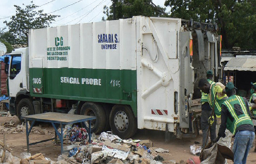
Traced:
<path fill-rule="evenodd" d="M 29 98 L 21 99 L 17 105 L 18 119 L 20 121 L 23 121 L 23 119 L 21 119 L 21 116 L 33 115 L 33 114 L 34 114 L 34 107 L 31 100 Z"/>

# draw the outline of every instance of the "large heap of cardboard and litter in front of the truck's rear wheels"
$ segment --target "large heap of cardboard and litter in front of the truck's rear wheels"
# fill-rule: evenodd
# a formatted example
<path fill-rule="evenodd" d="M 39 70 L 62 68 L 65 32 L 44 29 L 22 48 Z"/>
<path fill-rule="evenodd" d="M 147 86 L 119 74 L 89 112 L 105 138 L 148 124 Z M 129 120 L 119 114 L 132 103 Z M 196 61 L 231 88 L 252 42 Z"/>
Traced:
<path fill-rule="evenodd" d="M 88 141 L 85 129 L 77 127 L 65 130 L 66 140 L 81 141 L 80 133 L 84 133 Z M 71 145 L 65 146 L 68 153 L 60 155 L 56 164 L 162 164 L 164 159 L 158 153 L 169 153 L 169 150 L 153 147 L 150 140 L 123 140 L 111 132 L 92 137 L 90 144 L 84 140 L 75 142 L 78 145 L 71 141 Z"/>

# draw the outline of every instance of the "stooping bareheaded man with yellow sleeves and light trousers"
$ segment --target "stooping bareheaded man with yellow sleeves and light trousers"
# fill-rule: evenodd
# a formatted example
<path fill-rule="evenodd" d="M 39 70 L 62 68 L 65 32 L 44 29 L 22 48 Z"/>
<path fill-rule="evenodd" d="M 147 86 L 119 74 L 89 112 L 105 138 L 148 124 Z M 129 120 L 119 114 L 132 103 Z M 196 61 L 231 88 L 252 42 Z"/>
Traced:
<path fill-rule="evenodd" d="M 221 124 L 221 118 L 220 118 L 221 105 L 222 105 L 222 103 L 224 103 L 225 100 L 227 100 L 227 95 L 225 94 L 225 86 L 223 84 L 221 84 L 220 82 L 210 84 L 206 79 L 200 79 L 199 80 L 199 88 L 201 91 L 208 93 L 208 103 L 212 108 L 214 106 L 214 113 L 216 115 L 216 123 L 217 123 L 217 126 L 216 126 L 216 133 L 217 133 L 219 131 L 219 127 Z M 213 105 L 215 93 L 217 93 L 217 96 L 216 96 L 216 100 L 215 100 L 215 105 Z M 215 118 L 215 116 L 211 116 L 209 118 L 210 126 L 213 126 L 214 118 Z M 225 133 L 226 133 L 226 137 L 220 138 L 218 141 L 218 144 L 230 148 L 232 133 L 230 133 L 230 131 L 228 131 L 228 130 L 226 130 Z"/>

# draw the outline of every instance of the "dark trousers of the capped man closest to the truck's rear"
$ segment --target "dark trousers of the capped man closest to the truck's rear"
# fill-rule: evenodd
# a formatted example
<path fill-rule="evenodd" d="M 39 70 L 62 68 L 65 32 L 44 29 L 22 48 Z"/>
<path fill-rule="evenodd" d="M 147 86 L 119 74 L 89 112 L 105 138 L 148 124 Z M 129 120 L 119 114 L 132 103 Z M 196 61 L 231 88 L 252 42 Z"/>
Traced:
<path fill-rule="evenodd" d="M 209 128 L 208 119 L 212 115 L 212 108 L 209 103 L 202 104 L 202 113 L 201 113 L 201 129 L 203 132 L 203 143 L 202 148 L 207 145 L 208 138 L 207 138 L 207 131 Z M 216 138 L 216 119 L 214 119 L 213 125 L 210 127 L 210 138 L 211 141 Z M 207 140 L 207 141 L 206 141 Z"/>

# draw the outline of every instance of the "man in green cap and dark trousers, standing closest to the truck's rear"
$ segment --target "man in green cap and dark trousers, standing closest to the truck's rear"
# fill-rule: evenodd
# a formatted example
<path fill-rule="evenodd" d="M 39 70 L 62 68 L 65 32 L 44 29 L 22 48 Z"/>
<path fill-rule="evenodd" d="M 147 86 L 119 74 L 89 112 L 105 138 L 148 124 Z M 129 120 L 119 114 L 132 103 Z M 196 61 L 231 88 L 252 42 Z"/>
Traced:
<path fill-rule="evenodd" d="M 209 84 L 212 84 L 214 82 L 212 82 L 212 77 L 213 77 L 213 72 L 212 70 L 208 70 L 206 72 L 206 77 L 207 77 L 207 81 L 209 82 Z M 201 97 L 201 109 L 202 109 L 202 113 L 201 113 L 201 129 L 203 132 L 203 144 L 202 144 L 202 148 L 204 148 L 204 146 L 207 145 L 207 130 L 209 128 L 209 124 L 208 124 L 208 119 L 212 114 L 212 108 L 208 103 L 208 94 L 202 92 L 202 97 Z M 216 119 L 215 119 L 216 120 Z M 211 141 L 214 140 L 216 138 L 216 121 L 214 121 L 214 123 L 212 124 L 212 126 L 210 126 L 210 138 Z"/>

